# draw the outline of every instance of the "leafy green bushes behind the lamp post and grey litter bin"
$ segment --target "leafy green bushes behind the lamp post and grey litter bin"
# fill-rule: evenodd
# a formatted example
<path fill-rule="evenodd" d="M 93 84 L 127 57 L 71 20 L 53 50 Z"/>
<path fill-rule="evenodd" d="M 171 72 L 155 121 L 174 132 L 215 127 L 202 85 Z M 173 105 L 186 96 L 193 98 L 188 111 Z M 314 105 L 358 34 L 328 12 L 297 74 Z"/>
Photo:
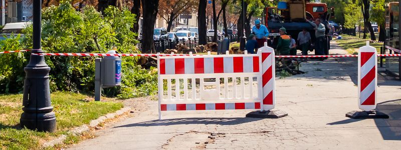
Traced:
<path fill-rule="evenodd" d="M 105 53 L 113 46 L 120 53 L 139 52 L 134 38 L 137 33 L 131 31 L 135 14 L 127 8 L 119 10 L 110 6 L 103 16 L 93 6 L 85 6 L 80 12 L 65 1 L 59 6 L 50 6 L 42 11 L 42 49 L 46 52 Z M 31 49 L 32 32 L 32 25 L 28 26 L 23 30 L 23 38 L 17 36 L 1 41 L 1 49 Z M 0 57 L 3 74 L 0 76 L 0 87 L 5 87 L 0 88 L 0 93 L 21 92 L 25 77 L 23 68 L 28 63 L 29 54 L 13 53 Z M 51 90 L 92 93 L 94 60 L 95 57 L 45 56 L 46 63 L 52 68 L 49 73 Z M 122 85 L 105 89 L 105 95 L 129 98 L 157 91 L 157 73 L 140 68 L 136 61 L 135 57 L 122 57 Z M 10 88 L 12 83 L 16 90 L 14 87 Z"/>

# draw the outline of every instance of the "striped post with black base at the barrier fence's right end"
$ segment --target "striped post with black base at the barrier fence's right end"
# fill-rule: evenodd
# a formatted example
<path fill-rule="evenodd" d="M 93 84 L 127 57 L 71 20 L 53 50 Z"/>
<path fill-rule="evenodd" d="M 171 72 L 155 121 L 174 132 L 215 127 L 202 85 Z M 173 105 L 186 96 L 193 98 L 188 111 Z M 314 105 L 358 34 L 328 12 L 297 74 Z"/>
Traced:
<path fill-rule="evenodd" d="M 272 47 L 265 46 L 258 49 L 259 62 L 262 76 L 262 99 L 261 111 L 253 111 L 248 113 L 247 117 L 257 118 L 280 118 L 288 114 L 281 110 L 272 110 L 276 105 L 276 89 L 275 89 L 275 53 Z"/>

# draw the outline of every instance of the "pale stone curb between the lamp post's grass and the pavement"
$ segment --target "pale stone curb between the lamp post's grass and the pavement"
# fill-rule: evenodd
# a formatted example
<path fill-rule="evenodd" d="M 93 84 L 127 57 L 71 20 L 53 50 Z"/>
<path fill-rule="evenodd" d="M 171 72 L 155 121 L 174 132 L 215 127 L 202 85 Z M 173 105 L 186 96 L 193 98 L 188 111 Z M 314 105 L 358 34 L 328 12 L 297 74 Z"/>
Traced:
<path fill-rule="evenodd" d="M 114 118 L 116 115 L 121 115 L 125 112 L 129 112 L 131 110 L 130 107 L 123 107 L 120 110 L 117 110 L 116 112 L 113 113 L 107 113 L 106 115 L 100 116 L 97 119 L 91 120 L 89 122 L 89 124 L 84 124 L 78 127 L 74 127 L 71 131 L 68 131 L 68 133 L 72 133 L 74 135 L 79 135 L 85 131 L 88 131 L 90 129 L 90 127 L 95 127 L 97 126 L 99 123 L 104 122 L 105 119 L 108 118 Z M 56 144 L 61 144 L 63 143 L 63 141 L 67 138 L 67 135 L 65 134 L 61 134 L 59 137 L 49 140 L 45 143 L 43 143 L 43 147 L 52 147 Z"/>

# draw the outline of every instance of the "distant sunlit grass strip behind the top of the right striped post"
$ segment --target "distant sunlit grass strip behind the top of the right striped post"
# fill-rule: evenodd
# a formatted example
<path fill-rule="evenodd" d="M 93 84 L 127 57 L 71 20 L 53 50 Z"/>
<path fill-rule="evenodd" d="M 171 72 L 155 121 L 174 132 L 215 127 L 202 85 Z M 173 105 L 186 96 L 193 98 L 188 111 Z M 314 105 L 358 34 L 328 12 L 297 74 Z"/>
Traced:
<path fill-rule="evenodd" d="M 348 35 L 348 34 L 342 34 L 341 36 L 344 39 L 339 39 L 339 40 L 336 40 L 336 41 L 337 41 L 338 45 L 343 47 L 345 50 L 347 50 L 347 52 L 349 54 L 357 54 L 358 53 L 358 48 L 366 45 L 366 41 L 364 41 L 364 40 L 369 40 L 370 39 L 370 38 L 363 39 L 363 38 L 359 38 L 358 36 L 351 36 L 351 35 Z M 359 39 L 345 39 L 345 38 L 350 38 L 350 37 L 359 38 Z M 378 36 L 377 36 L 377 38 L 378 38 Z M 380 52 L 380 47 L 383 45 L 383 43 L 375 42 L 375 43 L 370 43 L 370 45 L 375 47 L 376 50 L 378 52 Z"/>

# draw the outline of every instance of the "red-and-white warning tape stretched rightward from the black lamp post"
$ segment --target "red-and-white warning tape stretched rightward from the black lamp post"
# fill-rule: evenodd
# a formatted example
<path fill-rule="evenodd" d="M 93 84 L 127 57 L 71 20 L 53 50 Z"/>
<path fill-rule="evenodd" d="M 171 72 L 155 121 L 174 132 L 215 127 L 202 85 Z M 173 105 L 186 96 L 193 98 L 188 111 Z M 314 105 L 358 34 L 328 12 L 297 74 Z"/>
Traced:
<path fill-rule="evenodd" d="M 32 53 L 34 55 L 62 55 L 62 56 L 189 56 L 189 54 L 164 54 L 164 53 Z M 203 54 L 193 54 L 203 55 Z M 276 57 L 357 57 L 357 54 L 343 55 L 276 55 Z M 377 56 L 401 56 L 401 54 L 377 54 Z"/>

